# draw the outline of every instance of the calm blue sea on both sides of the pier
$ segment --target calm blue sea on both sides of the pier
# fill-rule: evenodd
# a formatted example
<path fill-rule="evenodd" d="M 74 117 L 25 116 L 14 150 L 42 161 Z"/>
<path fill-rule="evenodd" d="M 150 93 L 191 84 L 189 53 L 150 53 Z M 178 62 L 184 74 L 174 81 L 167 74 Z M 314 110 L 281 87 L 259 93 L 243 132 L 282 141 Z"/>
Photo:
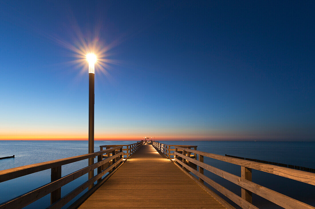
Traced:
<path fill-rule="evenodd" d="M 156 140 L 158 141 L 158 140 Z M 165 144 L 197 145 L 197 150 L 219 155 L 233 155 L 254 158 L 277 163 L 315 168 L 315 142 L 266 142 L 266 141 L 159 141 Z M 135 141 L 95 141 L 95 152 L 100 145 L 132 144 Z M 0 170 L 15 168 L 33 163 L 67 158 L 88 153 L 88 141 L 0 141 L 0 157 L 15 155 L 15 158 L 1 159 Z M 219 160 L 204 158 L 204 162 L 231 174 L 241 175 L 241 167 Z M 62 176 L 70 174 L 88 165 L 87 160 L 62 166 Z M 96 170 L 96 169 L 95 169 Z M 95 171 L 96 172 L 96 171 Z M 204 174 L 237 195 L 241 188 L 209 171 Z M 66 195 L 87 180 L 87 174 L 65 185 L 61 196 Z M 281 176 L 252 170 L 252 181 L 275 190 L 296 200 L 315 206 L 315 186 Z M 22 195 L 30 190 L 50 182 L 50 169 L 0 183 L 0 203 Z M 211 188 L 209 186 L 209 188 Z M 174 190 L 180 188 L 174 188 Z M 213 191 L 216 191 L 212 188 Z M 86 192 L 83 191 L 82 194 Z M 220 196 L 229 201 L 225 196 Z M 79 196 L 78 196 L 79 197 Z M 77 198 L 78 198 L 77 197 Z M 64 208 L 70 206 L 69 202 Z M 231 203 L 231 201 L 229 201 Z M 46 195 L 25 208 L 46 208 L 50 204 L 50 195 Z M 253 204 L 258 208 L 282 208 L 253 194 Z M 233 206 L 239 208 L 232 203 Z"/>

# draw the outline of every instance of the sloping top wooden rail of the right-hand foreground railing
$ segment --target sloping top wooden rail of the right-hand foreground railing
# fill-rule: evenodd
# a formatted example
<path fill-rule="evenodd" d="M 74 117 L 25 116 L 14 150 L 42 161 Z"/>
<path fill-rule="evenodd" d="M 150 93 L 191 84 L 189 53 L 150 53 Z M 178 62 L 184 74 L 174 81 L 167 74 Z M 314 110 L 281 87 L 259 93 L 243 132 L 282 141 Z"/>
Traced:
<path fill-rule="evenodd" d="M 295 170 L 295 169 L 290 169 L 290 168 L 284 168 L 277 165 L 270 165 L 270 164 L 265 164 L 265 163 L 258 163 L 254 161 L 238 159 L 238 158 L 231 158 L 231 157 L 226 157 L 223 155 L 207 153 L 207 152 L 202 152 L 202 151 L 197 151 L 197 150 L 192 150 L 192 149 L 186 149 L 183 147 L 175 147 L 175 148 L 180 149 L 180 150 L 185 150 L 191 153 L 200 154 L 205 157 L 213 158 L 216 160 L 221 160 L 227 163 L 233 163 L 233 164 L 240 165 L 243 167 L 260 170 L 266 173 L 275 174 L 278 176 L 286 177 L 288 179 L 293 179 L 293 180 L 297 180 L 297 181 L 304 182 L 307 184 L 315 185 L 314 173 L 309 173 L 306 171 L 300 171 L 300 170 Z"/>

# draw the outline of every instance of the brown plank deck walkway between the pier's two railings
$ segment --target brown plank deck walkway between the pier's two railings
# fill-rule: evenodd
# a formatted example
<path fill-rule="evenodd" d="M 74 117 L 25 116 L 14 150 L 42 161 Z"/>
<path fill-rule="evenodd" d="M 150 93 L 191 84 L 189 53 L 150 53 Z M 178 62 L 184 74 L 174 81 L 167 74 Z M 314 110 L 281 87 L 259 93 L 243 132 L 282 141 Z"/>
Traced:
<path fill-rule="evenodd" d="M 145 144 L 79 208 L 225 208 Z"/>

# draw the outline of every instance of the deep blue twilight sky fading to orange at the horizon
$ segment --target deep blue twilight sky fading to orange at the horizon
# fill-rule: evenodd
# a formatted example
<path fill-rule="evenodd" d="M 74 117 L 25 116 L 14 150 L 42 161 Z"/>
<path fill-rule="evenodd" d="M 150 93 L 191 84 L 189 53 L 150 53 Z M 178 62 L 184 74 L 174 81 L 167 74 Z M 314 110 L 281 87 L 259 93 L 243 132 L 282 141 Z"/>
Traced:
<path fill-rule="evenodd" d="M 315 140 L 314 1 L 0 1 L 0 139 Z M 81 60 L 82 61 L 82 60 Z"/>

